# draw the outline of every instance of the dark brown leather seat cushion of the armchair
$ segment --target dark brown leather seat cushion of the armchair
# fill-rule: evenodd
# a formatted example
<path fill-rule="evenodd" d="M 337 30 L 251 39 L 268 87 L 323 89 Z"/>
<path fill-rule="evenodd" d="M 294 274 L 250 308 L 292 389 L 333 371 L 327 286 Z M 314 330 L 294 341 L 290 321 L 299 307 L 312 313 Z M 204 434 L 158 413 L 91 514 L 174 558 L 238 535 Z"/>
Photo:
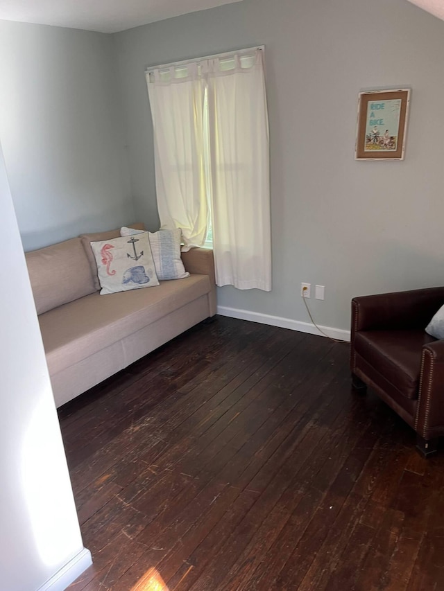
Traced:
<path fill-rule="evenodd" d="M 418 398 L 422 346 L 434 337 L 424 330 L 363 330 L 355 350 L 401 394 Z"/>

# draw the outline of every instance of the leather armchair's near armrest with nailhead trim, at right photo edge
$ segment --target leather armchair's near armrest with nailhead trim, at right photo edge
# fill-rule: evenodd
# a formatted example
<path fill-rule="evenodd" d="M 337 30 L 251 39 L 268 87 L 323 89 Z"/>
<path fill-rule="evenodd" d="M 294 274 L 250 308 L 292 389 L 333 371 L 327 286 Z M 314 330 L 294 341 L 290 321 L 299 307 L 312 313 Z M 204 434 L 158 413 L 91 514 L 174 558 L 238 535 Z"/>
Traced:
<path fill-rule="evenodd" d="M 422 347 L 421 374 L 415 430 L 434 439 L 444 429 L 444 340 Z"/>

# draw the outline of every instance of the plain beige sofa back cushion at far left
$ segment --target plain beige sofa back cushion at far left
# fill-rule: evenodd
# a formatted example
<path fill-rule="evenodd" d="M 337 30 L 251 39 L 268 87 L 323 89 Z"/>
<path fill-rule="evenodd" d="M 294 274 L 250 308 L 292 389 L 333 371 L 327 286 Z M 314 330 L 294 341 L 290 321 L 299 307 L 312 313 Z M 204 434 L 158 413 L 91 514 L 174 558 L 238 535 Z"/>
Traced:
<path fill-rule="evenodd" d="M 37 314 L 96 291 L 80 238 L 26 253 Z"/>

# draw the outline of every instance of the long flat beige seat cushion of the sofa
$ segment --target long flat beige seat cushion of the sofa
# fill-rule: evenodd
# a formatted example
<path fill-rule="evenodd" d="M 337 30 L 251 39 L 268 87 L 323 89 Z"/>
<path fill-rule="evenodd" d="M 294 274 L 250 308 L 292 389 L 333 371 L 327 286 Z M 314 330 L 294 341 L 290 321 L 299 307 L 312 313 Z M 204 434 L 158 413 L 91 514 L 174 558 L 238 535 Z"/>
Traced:
<path fill-rule="evenodd" d="M 39 318 L 49 373 L 53 375 L 210 292 L 207 275 L 164 281 L 153 290 L 101 297 L 99 292 Z"/>

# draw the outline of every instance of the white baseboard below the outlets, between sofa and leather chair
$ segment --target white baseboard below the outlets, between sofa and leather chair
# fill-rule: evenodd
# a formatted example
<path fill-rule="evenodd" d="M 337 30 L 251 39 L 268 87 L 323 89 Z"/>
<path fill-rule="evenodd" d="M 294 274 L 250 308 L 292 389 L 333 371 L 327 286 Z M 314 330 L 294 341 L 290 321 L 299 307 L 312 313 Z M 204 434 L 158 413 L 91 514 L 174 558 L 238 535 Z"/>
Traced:
<path fill-rule="evenodd" d="M 281 316 L 271 316 L 269 314 L 261 314 L 260 312 L 250 312 L 250 310 L 239 310 L 238 308 L 228 308 L 228 306 L 217 306 L 217 313 L 221 316 L 229 316 L 230 318 L 239 318 L 241 320 L 250 320 L 252 322 L 259 322 L 260 324 L 268 324 L 270 326 L 279 326 L 280 328 L 290 328 L 290 330 L 298 330 L 300 333 L 309 333 L 310 335 L 324 336 L 319 330 L 311 324 L 311 322 L 301 322 L 299 320 L 292 320 L 291 318 L 283 318 Z M 331 326 L 321 326 L 325 335 L 340 341 L 350 341 L 350 330 L 343 330 L 342 328 L 332 328 Z"/>

